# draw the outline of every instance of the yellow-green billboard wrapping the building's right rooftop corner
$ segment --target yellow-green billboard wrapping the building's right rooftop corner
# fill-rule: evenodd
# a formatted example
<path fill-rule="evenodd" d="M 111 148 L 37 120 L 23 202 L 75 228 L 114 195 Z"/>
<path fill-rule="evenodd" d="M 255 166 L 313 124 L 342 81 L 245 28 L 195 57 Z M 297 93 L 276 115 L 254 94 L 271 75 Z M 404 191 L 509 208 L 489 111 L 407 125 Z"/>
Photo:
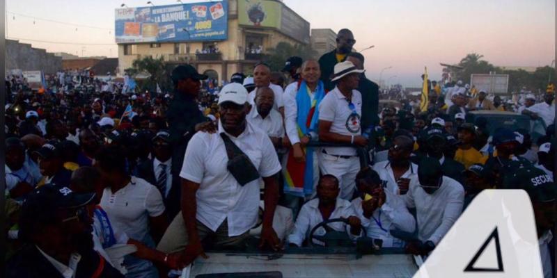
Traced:
<path fill-rule="evenodd" d="M 238 0 L 238 22 L 244 26 L 276 28 L 290 38 L 309 43 L 309 22 L 278 1 Z"/>

